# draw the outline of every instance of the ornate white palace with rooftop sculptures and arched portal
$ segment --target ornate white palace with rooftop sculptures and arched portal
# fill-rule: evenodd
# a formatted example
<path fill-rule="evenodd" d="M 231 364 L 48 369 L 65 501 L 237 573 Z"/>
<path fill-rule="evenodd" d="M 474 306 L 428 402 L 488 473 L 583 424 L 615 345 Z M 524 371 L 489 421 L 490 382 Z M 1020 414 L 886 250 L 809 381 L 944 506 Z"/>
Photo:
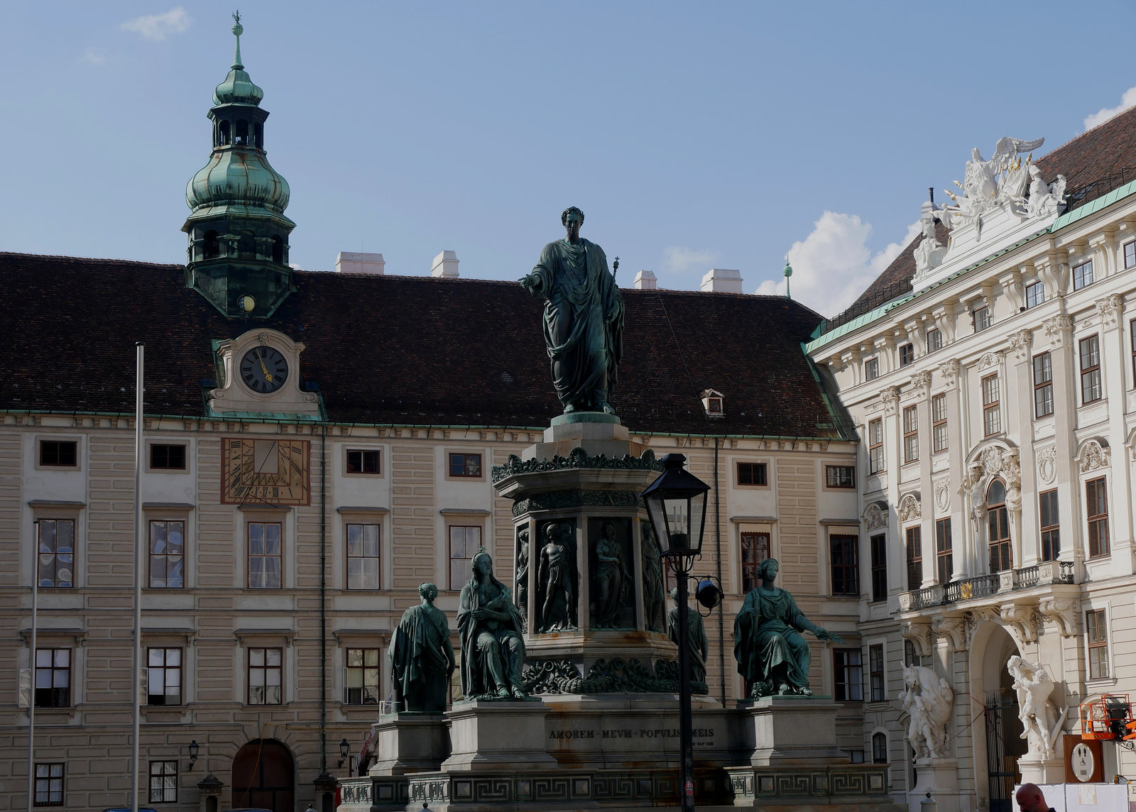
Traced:
<path fill-rule="evenodd" d="M 1136 111 L 1038 145 L 976 150 L 963 193 L 924 203 L 922 234 L 807 344 L 860 437 L 864 735 L 895 784 L 918 748 L 961 809 L 1076 782 L 1080 703 L 1136 694 Z M 916 684 L 944 679 L 913 729 Z M 1085 747 L 1079 780 L 1136 770 Z"/>

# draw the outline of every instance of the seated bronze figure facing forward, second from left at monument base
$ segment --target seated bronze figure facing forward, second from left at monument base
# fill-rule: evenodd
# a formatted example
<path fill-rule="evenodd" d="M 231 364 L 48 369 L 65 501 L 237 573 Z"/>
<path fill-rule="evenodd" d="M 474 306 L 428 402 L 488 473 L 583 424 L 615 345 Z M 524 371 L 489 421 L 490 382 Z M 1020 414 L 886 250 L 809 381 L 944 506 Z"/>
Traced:
<path fill-rule="evenodd" d="M 467 700 L 525 700 L 520 676 L 524 620 L 509 598 L 509 588 L 493 577 L 493 559 L 484 547 L 474 555 L 470 569 L 458 603 L 461 694 Z"/>

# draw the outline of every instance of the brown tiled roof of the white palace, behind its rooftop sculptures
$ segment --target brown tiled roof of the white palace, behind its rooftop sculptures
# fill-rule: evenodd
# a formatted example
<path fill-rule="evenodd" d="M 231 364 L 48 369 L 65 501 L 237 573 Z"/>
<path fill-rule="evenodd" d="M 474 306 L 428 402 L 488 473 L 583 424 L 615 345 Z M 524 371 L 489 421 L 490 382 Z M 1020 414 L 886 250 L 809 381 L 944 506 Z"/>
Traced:
<path fill-rule="evenodd" d="M 1118 183 L 1131 181 L 1136 177 L 1133 173 L 1136 169 L 1136 107 L 1081 133 L 1035 162 L 1046 182 L 1052 183 L 1058 175 L 1064 175 L 1069 184 L 1068 190 L 1074 194 L 1078 189 L 1110 176 L 1116 176 Z M 1122 170 L 1128 171 L 1122 173 Z M 1097 191 L 1103 193 L 1108 187 L 1102 185 Z M 1080 198 L 1075 202 L 1087 200 L 1088 198 Z M 942 226 L 938 238 L 946 243 Z M 916 273 L 913 252 L 920 240 L 922 236 L 917 236 L 900 252 L 900 256 L 892 260 L 892 263 L 860 294 L 850 309 L 862 308 L 888 293 L 900 295 L 904 291 L 910 291 L 911 277 Z"/>

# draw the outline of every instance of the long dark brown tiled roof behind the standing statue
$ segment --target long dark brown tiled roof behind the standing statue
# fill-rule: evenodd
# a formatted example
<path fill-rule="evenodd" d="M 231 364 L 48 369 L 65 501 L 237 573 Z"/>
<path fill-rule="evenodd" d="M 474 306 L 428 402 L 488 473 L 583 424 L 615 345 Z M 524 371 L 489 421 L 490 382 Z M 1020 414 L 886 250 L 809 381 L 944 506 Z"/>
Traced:
<path fill-rule="evenodd" d="M 541 302 L 516 283 L 295 273 L 266 321 L 228 320 L 175 265 L 0 253 L 0 409 L 204 416 L 211 342 L 260 326 L 302 341 L 303 380 L 335 422 L 545 427 L 560 408 Z M 632 430 L 830 436 L 801 350 L 820 317 L 780 296 L 624 290 L 612 403 Z M 683 348 L 683 353 L 677 352 Z M 710 421 L 699 394 L 725 393 Z"/>

